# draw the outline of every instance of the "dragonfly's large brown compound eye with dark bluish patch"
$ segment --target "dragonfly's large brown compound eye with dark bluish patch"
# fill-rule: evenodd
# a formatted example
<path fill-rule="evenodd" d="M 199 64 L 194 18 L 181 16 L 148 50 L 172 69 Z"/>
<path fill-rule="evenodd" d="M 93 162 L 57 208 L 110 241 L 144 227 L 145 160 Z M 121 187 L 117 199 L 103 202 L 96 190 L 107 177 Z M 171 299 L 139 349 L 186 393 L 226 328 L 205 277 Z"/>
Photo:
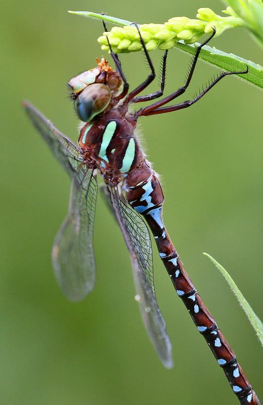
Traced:
<path fill-rule="evenodd" d="M 112 93 L 108 86 L 94 83 L 77 96 L 74 101 L 75 111 L 78 117 L 87 123 L 109 105 L 111 97 Z"/>

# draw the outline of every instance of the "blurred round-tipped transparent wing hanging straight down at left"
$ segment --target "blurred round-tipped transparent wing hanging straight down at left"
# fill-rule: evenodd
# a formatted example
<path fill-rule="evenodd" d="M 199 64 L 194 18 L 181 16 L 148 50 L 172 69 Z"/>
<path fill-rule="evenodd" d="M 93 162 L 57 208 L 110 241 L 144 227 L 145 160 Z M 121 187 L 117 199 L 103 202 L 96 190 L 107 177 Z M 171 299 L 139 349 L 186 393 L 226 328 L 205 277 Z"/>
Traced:
<path fill-rule="evenodd" d="M 59 285 L 71 301 L 93 290 L 95 258 L 93 228 L 97 182 L 93 170 L 79 166 L 72 178 L 68 215 L 52 249 L 52 263 Z"/>

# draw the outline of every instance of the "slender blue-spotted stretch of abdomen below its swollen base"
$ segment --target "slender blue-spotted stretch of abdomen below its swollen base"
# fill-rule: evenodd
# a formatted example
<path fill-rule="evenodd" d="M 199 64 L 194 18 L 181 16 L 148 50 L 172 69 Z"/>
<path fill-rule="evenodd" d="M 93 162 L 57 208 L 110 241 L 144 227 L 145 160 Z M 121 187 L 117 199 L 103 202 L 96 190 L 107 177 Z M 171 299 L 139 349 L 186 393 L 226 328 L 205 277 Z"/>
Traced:
<path fill-rule="evenodd" d="M 159 255 L 170 275 L 176 293 L 188 309 L 197 330 L 203 335 L 218 364 L 223 368 L 232 390 L 240 398 L 240 403 L 249 403 L 254 398 L 255 393 L 237 362 L 234 351 L 229 346 L 218 328 L 216 320 L 204 305 L 185 271 L 164 226 L 162 211 L 163 207 L 160 206 L 159 208 L 152 208 L 150 211 L 142 213 L 142 215 L 154 235 Z"/>

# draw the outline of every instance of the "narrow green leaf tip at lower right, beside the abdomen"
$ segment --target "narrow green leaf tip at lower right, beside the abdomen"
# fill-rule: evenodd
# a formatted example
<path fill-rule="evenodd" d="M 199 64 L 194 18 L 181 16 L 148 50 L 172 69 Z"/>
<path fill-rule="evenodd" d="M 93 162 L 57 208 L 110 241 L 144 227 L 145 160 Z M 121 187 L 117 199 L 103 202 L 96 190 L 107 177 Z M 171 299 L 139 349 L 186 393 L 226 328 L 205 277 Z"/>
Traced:
<path fill-rule="evenodd" d="M 243 294 L 238 289 L 236 283 L 230 277 L 230 275 L 224 269 L 224 267 L 221 266 L 221 264 L 219 264 L 212 256 L 208 255 L 208 253 L 204 253 L 204 255 L 207 256 L 215 264 L 215 266 L 220 270 L 220 272 L 223 274 L 223 276 L 227 280 L 231 290 L 235 294 L 239 304 L 241 305 L 241 307 L 245 311 L 246 316 L 249 319 L 249 322 L 251 323 L 252 327 L 254 328 L 255 333 L 256 333 L 261 345 L 263 346 L 263 323 L 257 317 L 257 315 L 254 313 L 253 309 L 251 308 L 251 306 L 249 305 L 247 300 L 244 298 Z"/>

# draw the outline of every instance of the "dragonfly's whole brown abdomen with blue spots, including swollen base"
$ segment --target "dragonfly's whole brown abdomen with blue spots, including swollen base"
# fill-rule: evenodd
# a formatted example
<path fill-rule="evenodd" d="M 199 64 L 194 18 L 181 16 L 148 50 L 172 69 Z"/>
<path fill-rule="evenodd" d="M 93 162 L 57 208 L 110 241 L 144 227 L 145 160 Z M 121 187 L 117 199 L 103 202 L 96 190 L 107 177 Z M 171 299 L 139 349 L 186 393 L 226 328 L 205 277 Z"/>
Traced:
<path fill-rule="evenodd" d="M 129 177 L 127 179 L 129 180 Z M 128 187 L 126 198 L 147 221 L 177 295 L 182 299 L 197 330 L 203 335 L 219 365 L 223 368 L 232 390 L 239 397 L 240 403 L 251 402 L 253 398 L 256 398 L 255 393 L 237 362 L 235 353 L 192 284 L 168 235 L 163 222 L 164 195 L 161 184 L 152 169 L 147 180 Z"/>

